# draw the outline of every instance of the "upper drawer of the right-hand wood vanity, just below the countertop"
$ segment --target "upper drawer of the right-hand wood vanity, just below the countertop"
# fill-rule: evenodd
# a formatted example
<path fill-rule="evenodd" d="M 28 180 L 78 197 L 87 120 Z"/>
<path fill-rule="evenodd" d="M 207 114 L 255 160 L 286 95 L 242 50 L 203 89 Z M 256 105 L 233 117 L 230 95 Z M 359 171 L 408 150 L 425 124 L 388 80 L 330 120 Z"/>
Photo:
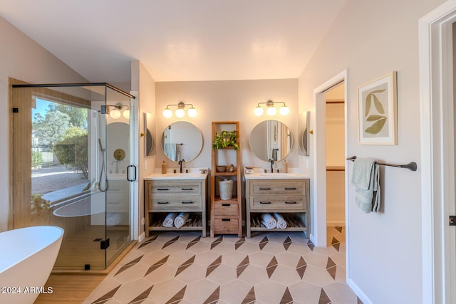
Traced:
<path fill-rule="evenodd" d="M 304 182 L 283 182 L 281 180 L 261 181 L 250 183 L 250 193 L 252 195 L 261 194 L 304 194 Z"/>

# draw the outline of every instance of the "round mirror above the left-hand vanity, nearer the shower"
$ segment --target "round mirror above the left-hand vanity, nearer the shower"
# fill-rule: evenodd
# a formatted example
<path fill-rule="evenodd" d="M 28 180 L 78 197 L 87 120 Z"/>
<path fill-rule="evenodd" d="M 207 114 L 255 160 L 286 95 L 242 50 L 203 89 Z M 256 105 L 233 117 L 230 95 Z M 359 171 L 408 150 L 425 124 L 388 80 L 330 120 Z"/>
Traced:
<path fill-rule="evenodd" d="M 173 122 L 162 134 L 162 149 L 173 162 L 190 162 L 202 150 L 202 134 L 190 122 Z"/>

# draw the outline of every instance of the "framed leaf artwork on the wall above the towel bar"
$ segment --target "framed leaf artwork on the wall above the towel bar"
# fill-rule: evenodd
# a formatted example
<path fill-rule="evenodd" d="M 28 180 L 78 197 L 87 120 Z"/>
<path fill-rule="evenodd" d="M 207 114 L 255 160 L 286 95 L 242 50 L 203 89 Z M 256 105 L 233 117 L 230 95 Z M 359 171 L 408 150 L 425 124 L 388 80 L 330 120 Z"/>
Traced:
<path fill-rule="evenodd" d="M 397 72 L 358 88 L 361 145 L 397 145 Z"/>

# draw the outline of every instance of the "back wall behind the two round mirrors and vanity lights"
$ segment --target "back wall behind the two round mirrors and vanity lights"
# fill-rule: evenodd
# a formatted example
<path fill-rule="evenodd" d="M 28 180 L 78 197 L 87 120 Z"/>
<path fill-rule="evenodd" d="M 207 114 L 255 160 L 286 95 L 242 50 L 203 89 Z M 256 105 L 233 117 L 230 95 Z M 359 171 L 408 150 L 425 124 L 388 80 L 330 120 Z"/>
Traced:
<path fill-rule="evenodd" d="M 167 104 L 177 104 L 180 101 L 192 103 L 198 111 L 197 117 L 187 115 L 182 119 L 192 122 L 203 135 L 203 149 L 199 156 L 185 167 L 211 166 L 211 128 L 213 121 L 239 121 L 242 164 L 245 166 L 268 167 L 269 163 L 261 161 L 252 154 L 249 147 L 249 135 L 255 125 L 263 120 L 271 119 L 266 113 L 257 117 L 254 108 L 257 103 L 267 100 L 284 102 L 290 108 L 287 116 L 275 115 L 274 119 L 284 122 L 291 129 L 294 140 L 297 139 L 298 120 L 298 80 L 227 80 L 227 81 L 189 81 L 157 83 L 157 133 L 156 141 L 160 142 L 162 132 L 167 125 L 177 121 L 173 115 L 170 119 L 163 117 L 162 111 Z M 175 110 L 173 107 L 172 110 Z M 162 148 L 157 148 L 157 166 L 167 162 L 168 168 L 177 167 L 163 154 Z M 289 167 L 298 166 L 298 145 L 293 145 L 290 156 L 287 157 Z M 281 164 L 277 165 L 281 167 Z"/>

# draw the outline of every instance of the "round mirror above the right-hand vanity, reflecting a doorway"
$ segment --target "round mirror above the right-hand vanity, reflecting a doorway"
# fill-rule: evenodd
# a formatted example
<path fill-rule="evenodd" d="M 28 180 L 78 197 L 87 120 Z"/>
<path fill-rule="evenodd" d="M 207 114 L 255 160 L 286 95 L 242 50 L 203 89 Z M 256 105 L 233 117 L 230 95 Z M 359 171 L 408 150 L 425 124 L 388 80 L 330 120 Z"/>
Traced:
<path fill-rule="evenodd" d="M 277 120 L 265 120 L 254 127 L 250 134 L 250 149 L 261 160 L 284 159 L 293 145 L 289 127 Z"/>

